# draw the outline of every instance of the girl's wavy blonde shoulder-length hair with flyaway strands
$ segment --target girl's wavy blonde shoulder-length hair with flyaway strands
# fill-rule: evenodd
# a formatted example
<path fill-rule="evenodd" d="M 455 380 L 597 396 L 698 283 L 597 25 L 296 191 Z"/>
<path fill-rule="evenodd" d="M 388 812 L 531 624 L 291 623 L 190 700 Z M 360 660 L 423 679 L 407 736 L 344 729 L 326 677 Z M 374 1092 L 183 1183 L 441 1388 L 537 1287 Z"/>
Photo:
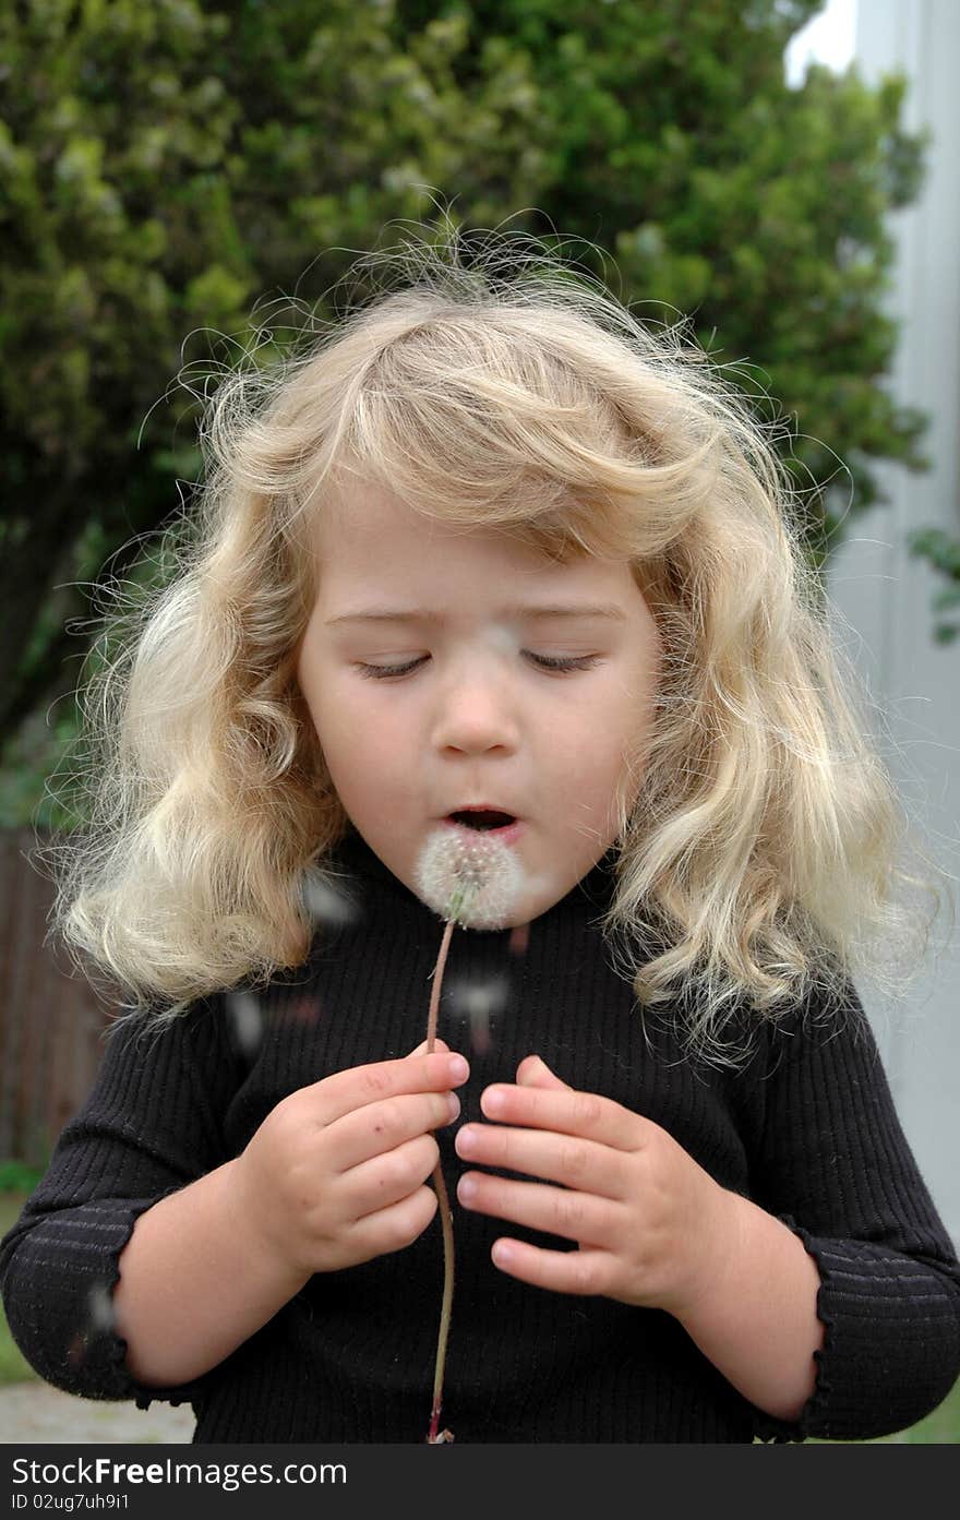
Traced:
<path fill-rule="evenodd" d="M 304 882 L 348 819 L 295 672 L 311 524 L 357 476 L 562 561 L 629 556 L 664 655 L 602 929 L 644 1009 L 735 1064 L 738 1008 L 907 986 L 895 961 L 917 961 L 928 921 L 904 889 L 934 917 L 940 892 L 901 859 L 913 825 L 773 424 L 684 324 L 653 330 L 524 248 L 491 236 L 465 261 L 453 234 L 374 255 L 396 289 L 216 391 L 173 575 L 108 619 L 120 655 L 82 692 L 90 827 L 50 851 L 50 932 L 125 1006 L 164 1020 L 308 955 Z"/>

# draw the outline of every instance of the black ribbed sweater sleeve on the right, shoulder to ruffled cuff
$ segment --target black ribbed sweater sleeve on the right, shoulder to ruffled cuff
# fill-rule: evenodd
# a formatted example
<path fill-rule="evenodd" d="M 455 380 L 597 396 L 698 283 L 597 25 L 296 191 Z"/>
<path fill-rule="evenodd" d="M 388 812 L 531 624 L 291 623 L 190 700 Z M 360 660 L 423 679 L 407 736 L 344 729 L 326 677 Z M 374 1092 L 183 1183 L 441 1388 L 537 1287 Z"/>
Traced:
<path fill-rule="evenodd" d="M 866 1441 L 916 1424 L 960 1374 L 960 1268 L 898 1120 L 860 999 L 778 1029 L 753 1199 L 820 1272 L 816 1388 L 761 1439 Z"/>

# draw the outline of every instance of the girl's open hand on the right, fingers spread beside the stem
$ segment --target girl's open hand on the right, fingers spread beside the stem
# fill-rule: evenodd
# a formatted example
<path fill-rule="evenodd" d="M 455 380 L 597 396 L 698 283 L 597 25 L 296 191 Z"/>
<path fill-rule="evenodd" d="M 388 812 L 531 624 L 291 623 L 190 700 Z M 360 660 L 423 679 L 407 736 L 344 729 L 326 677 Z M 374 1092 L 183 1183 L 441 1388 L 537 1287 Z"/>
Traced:
<path fill-rule="evenodd" d="M 735 1251 L 738 1211 L 728 1193 L 659 1125 L 597 1093 L 577 1093 L 539 1056 L 516 1069 L 516 1087 L 485 1088 L 494 1125 L 463 1125 L 457 1155 L 544 1183 L 466 1172 L 466 1208 L 576 1240 L 547 1251 L 500 1237 L 494 1263 L 557 1294 L 598 1294 L 684 1316 Z"/>

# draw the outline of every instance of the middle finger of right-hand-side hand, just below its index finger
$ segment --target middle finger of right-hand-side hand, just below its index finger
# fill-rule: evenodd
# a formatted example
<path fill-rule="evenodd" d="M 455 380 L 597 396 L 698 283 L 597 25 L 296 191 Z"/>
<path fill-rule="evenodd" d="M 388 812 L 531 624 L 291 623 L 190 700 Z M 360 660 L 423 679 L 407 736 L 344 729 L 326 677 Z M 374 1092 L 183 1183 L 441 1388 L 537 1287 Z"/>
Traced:
<path fill-rule="evenodd" d="M 454 1145 L 463 1161 L 524 1172 L 598 1198 L 621 1199 L 630 1186 L 627 1152 L 580 1135 L 501 1125 L 463 1125 L 457 1129 Z"/>

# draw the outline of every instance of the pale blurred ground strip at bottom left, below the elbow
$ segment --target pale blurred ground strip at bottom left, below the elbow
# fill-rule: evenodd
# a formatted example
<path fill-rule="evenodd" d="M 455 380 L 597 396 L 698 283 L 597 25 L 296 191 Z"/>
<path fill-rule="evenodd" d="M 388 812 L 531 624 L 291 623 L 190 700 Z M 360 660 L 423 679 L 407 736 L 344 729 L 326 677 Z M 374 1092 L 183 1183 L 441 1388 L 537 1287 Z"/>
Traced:
<path fill-rule="evenodd" d="M 196 1424 L 190 1404 L 102 1403 L 74 1398 L 50 1383 L 8 1383 L 0 1388 L 0 1444 L 84 1442 L 87 1446 L 169 1444 L 191 1441 Z"/>

